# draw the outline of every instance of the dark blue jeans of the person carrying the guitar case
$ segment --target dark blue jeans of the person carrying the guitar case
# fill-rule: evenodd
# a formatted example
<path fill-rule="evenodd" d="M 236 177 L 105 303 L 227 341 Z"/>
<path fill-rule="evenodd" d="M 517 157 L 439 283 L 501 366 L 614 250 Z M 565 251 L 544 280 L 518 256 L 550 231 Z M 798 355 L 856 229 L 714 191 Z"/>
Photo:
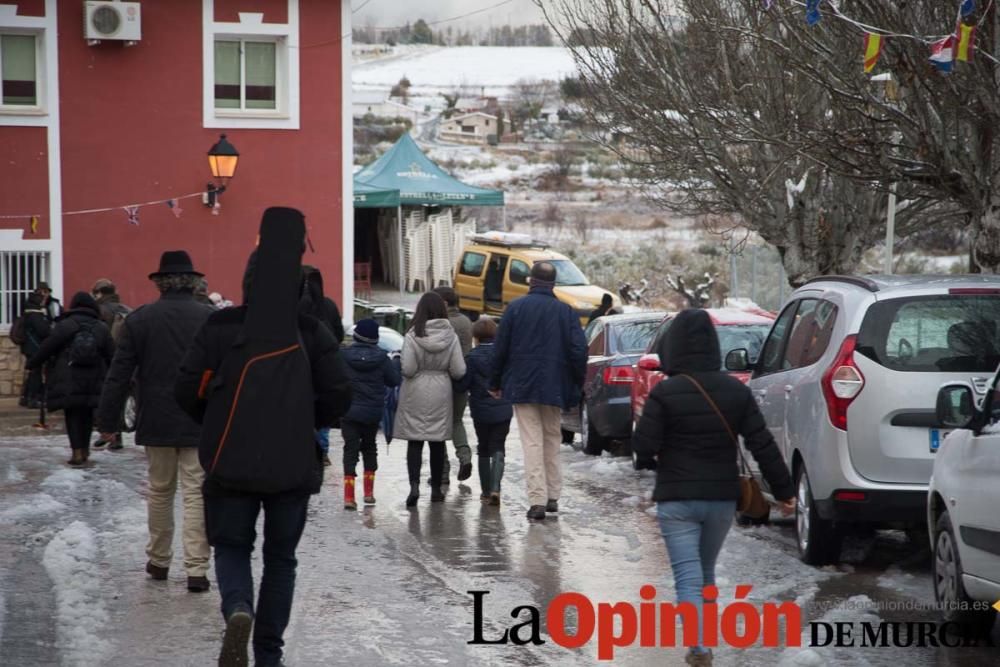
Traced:
<path fill-rule="evenodd" d="M 254 610 L 250 558 L 257 515 L 264 508 L 264 573 L 254 614 L 253 652 L 258 665 L 281 662 L 295 594 L 295 549 L 306 525 L 308 495 L 205 496 L 205 532 L 215 550 L 222 616 Z"/>

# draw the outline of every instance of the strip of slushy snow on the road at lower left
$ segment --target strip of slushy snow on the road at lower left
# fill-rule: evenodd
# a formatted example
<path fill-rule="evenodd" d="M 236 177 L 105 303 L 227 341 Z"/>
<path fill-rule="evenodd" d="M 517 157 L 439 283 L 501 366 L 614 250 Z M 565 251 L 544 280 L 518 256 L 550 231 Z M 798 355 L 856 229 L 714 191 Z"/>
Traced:
<path fill-rule="evenodd" d="M 110 652 L 111 644 L 98 636 L 108 622 L 94 572 L 98 560 L 94 531 L 82 521 L 59 531 L 45 547 L 42 564 L 55 588 L 63 664 L 98 665 Z"/>

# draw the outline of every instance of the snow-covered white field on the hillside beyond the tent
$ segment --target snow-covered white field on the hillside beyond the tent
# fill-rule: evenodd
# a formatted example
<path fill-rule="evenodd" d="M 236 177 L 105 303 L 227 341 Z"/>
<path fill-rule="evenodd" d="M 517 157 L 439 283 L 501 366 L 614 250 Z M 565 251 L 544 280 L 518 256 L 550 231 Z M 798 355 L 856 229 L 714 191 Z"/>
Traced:
<path fill-rule="evenodd" d="M 575 72 L 569 49 L 562 47 L 425 47 L 355 63 L 352 81 L 359 89 L 377 89 L 405 76 L 413 95 L 468 89 L 504 96 L 519 81 L 559 81 Z"/>

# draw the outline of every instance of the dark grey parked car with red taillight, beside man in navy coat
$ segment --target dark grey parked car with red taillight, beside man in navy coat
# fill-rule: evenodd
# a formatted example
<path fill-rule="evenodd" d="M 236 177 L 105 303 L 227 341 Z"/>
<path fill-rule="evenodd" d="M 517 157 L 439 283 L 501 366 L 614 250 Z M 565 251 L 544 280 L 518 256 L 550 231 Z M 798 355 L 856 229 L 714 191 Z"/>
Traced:
<path fill-rule="evenodd" d="M 587 454 L 631 456 L 635 363 L 665 316 L 661 311 L 605 315 L 587 326 L 584 400 L 562 419 L 564 429 L 580 434 Z"/>

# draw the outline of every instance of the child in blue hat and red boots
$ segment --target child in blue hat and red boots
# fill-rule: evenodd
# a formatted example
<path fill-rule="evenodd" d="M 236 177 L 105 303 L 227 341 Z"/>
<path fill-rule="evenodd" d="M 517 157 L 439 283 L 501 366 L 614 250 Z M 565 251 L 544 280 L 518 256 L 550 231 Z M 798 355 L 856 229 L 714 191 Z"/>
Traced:
<path fill-rule="evenodd" d="M 358 454 L 365 463 L 365 504 L 375 504 L 375 471 L 378 447 L 375 435 L 385 404 L 386 387 L 399 385 L 399 369 L 378 346 L 378 322 L 361 320 L 354 327 L 354 343 L 341 349 L 351 381 L 351 407 L 341 420 L 344 436 L 344 509 L 356 510 L 354 480 Z"/>

